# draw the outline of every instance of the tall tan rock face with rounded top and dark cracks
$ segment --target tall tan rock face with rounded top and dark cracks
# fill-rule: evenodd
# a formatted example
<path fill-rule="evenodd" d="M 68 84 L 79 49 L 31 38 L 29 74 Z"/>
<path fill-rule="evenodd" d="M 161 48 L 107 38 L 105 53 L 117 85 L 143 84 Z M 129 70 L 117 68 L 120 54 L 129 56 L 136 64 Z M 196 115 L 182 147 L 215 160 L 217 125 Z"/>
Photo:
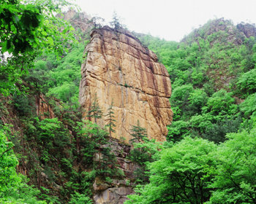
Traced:
<path fill-rule="evenodd" d="M 132 125 L 147 130 L 148 138 L 165 141 L 166 125 L 172 121 L 171 86 L 165 66 L 157 55 L 140 43 L 128 31 L 116 31 L 108 26 L 94 29 L 87 45 L 80 82 L 80 105 L 83 117 L 97 95 L 97 102 L 106 114 L 113 101 L 116 119 L 113 138 L 128 142 Z M 106 125 L 106 117 L 98 119 Z"/>

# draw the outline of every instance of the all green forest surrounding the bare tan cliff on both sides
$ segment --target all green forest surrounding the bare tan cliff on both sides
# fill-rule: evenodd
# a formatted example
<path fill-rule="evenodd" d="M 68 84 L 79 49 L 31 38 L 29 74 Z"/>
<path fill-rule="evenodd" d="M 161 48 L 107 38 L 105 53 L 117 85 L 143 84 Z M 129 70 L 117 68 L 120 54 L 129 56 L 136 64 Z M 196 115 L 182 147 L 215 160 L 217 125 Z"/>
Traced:
<path fill-rule="evenodd" d="M 124 177 L 111 106 L 102 113 L 95 100 L 91 122 L 78 103 L 84 48 L 102 19 L 68 22 L 56 16 L 67 1 L 31 2 L 0 7 L 0 203 L 93 203 L 95 179 Z M 110 25 L 122 26 L 116 15 Z M 125 203 L 256 203 L 255 30 L 214 19 L 181 42 L 134 33 L 170 74 L 173 122 L 162 143 L 132 127 L 128 158 L 140 168 Z M 94 123 L 102 115 L 106 128 Z"/>

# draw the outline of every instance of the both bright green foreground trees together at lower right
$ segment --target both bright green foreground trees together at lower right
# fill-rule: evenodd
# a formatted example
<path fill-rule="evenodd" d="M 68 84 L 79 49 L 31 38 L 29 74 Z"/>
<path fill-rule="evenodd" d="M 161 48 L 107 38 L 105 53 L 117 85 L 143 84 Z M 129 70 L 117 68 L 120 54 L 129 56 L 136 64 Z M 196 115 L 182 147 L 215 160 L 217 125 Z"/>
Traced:
<path fill-rule="evenodd" d="M 126 203 L 255 203 L 256 128 L 230 133 L 217 146 L 186 137 L 159 152 L 150 183 Z"/>

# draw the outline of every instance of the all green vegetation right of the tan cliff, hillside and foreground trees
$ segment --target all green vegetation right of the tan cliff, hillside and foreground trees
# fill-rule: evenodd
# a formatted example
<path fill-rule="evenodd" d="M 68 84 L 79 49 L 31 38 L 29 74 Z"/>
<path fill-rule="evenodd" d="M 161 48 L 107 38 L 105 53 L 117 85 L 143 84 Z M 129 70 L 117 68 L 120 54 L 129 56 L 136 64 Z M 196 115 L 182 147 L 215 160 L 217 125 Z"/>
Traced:
<path fill-rule="evenodd" d="M 255 203 L 255 37 L 223 19 L 170 49 L 139 37 L 169 71 L 174 114 L 171 146 L 144 162 L 149 182 L 126 203 Z"/>

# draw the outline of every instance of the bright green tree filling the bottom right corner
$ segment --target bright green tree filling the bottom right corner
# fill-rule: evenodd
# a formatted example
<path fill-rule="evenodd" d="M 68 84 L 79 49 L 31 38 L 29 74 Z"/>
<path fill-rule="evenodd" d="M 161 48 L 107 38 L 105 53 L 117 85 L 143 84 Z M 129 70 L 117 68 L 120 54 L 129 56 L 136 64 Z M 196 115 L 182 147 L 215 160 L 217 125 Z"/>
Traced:
<path fill-rule="evenodd" d="M 232 133 L 217 149 L 216 176 L 208 203 L 255 203 L 256 128 L 250 132 Z"/>

